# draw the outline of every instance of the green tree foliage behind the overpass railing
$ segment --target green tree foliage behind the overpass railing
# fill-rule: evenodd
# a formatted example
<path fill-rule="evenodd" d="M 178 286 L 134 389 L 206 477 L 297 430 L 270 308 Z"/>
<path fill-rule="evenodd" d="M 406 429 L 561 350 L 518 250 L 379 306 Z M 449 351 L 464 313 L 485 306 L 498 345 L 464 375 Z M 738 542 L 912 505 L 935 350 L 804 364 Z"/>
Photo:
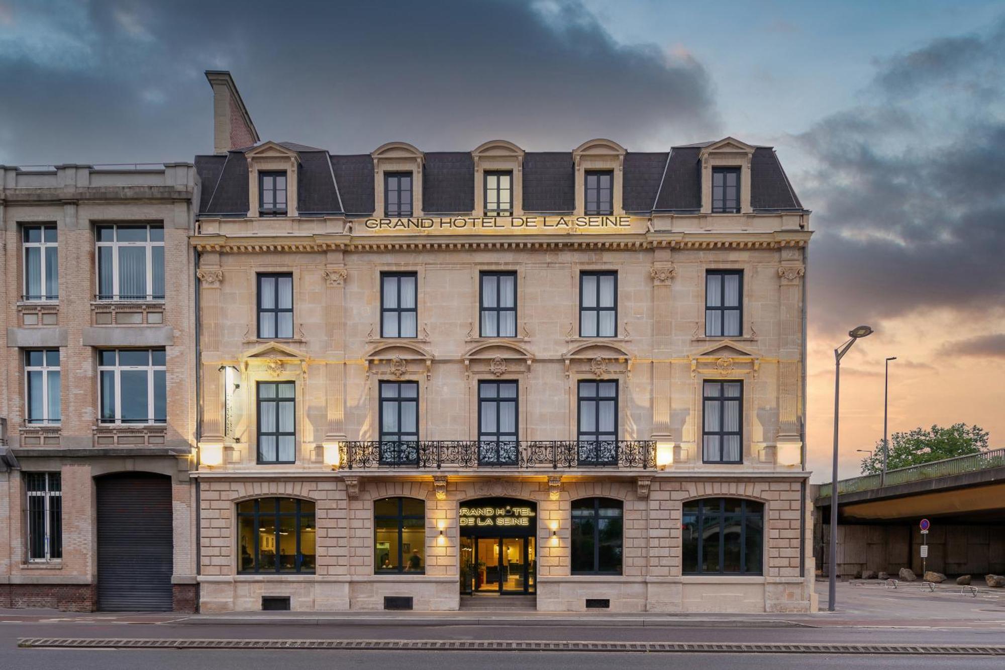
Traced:
<path fill-rule="evenodd" d="M 911 433 L 894 433 L 889 441 L 887 470 L 968 456 L 988 449 L 988 432 L 979 426 L 954 424 L 949 428 L 933 426 L 917 428 Z M 875 451 L 862 459 L 862 474 L 882 472 L 882 440 L 876 441 Z"/>

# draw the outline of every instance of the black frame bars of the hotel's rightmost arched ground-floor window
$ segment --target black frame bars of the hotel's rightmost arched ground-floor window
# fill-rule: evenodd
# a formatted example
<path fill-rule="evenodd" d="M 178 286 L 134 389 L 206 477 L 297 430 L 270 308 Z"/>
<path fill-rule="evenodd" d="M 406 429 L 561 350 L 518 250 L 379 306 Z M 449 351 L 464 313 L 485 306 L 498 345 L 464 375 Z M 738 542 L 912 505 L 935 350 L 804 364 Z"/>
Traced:
<path fill-rule="evenodd" d="M 707 503 L 715 502 L 715 509 L 707 509 Z M 727 512 L 726 505 L 727 501 L 740 502 L 740 512 Z M 755 509 L 751 509 L 754 507 Z M 727 531 L 727 519 L 738 518 L 740 519 L 740 570 L 727 571 L 726 570 L 726 531 Z M 713 523 L 718 523 L 719 525 L 719 570 L 706 570 L 703 569 L 705 563 L 705 546 L 709 540 L 706 537 L 706 519 L 712 519 Z M 747 557 L 751 553 L 751 548 L 748 547 L 747 542 L 749 539 L 749 531 L 751 529 L 751 523 L 748 519 L 759 521 L 759 530 L 761 541 L 757 548 L 756 555 L 760 562 L 759 569 L 748 569 L 747 568 Z M 733 498 L 733 497 L 722 497 L 722 498 L 697 498 L 694 500 L 688 500 L 682 504 L 681 507 L 681 548 L 680 548 L 680 571 L 681 574 L 722 574 L 722 575 L 744 575 L 744 576 L 762 576 L 764 574 L 764 547 L 765 547 L 765 505 L 763 502 L 756 500 L 748 500 L 746 498 Z M 687 562 L 691 558 L 691 540 L 685 536 L 687 532 L 688 523 L 693 523 L 693 528 L 696 530 L 693 542 L 697 545 L 696 551 L 694 552 L 694 565 L 693 569 L 687 569 L 689 565 Z M 711 524 L 710 524 L 711 525 Z"/>

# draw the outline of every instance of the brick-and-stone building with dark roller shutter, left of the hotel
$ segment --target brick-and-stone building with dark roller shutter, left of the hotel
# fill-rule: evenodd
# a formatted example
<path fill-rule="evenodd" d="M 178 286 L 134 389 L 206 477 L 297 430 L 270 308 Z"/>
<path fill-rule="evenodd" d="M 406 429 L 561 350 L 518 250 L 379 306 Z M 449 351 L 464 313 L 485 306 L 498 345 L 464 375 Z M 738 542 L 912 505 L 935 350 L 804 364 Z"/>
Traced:
<path fill-rule="evenodd" d="M 198 183 L 0 166 L 0 607 L 196 606 Z"/>

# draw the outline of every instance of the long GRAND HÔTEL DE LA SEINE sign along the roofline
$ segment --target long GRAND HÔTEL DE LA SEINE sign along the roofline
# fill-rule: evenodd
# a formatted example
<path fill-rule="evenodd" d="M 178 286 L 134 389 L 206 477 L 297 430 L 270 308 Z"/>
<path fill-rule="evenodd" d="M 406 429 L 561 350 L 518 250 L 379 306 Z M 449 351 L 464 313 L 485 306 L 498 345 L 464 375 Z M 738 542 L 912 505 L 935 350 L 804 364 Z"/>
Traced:
<path fill-rule="evenodd" d="M 630 232 L 646 229 L 648 219 L 631 216 L 415 216 L 368 218 L 373 233 L 572 233 Z"/>

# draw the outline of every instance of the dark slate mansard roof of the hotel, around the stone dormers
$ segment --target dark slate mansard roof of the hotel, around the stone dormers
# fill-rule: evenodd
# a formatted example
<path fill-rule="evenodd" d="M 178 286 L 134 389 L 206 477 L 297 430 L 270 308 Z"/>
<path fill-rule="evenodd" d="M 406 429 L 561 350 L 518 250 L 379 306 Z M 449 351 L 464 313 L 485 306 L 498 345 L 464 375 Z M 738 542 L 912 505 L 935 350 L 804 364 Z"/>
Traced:
<path fill-rule="evenodd" d="M 569 151 L 525 152 L 523 208 L 529 213 L 572 212 L 576 207 L 576 152 L 604 142 L 591 140 Z M 200 214 L 245 216 L 248 212 L 248 166 L 245 153 L 269 143 L 259 143 L 226 155 L 197 156 L 202 180 Z M 303 216 L 374 213 L 376 178 L 374 157 L 385 154 L 414 156 L 422 165 L 424 213 L 452 214 L 474 209 L 475 157 L 495 147 L 523 151 L 505 140 L 486 142 L 473 151 L 422 152 L 403 142 L 391 142 L 372 154 L 332 154 L 293 142 L 270 143 L 296 154 L 297 212 Z M 653 211 L 697 211 L 701 207 L 701 158 L 720 147 L 752 151 L 751 206 L 757 210 L 801 210 L 792 184 L 772 147 L 747 145 L 733 138 L 717 142 L 679 145 L 668 152 L 625 151 L 622 167 L 622 203 L 634 214 Z"/>

